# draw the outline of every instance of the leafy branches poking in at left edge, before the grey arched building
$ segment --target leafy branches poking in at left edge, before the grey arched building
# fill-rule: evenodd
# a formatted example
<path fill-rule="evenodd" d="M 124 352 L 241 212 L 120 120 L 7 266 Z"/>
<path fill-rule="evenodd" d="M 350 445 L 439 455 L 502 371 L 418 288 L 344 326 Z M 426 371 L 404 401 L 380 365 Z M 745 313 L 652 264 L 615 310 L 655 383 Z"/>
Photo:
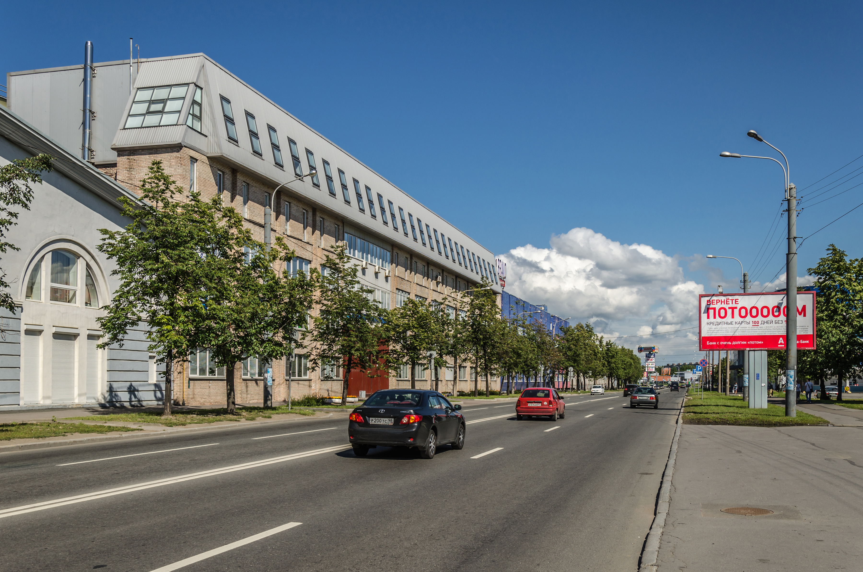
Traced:
<path fill-rule="evenodd" d="M 14 159 L 0 167 L 0 254 L 9 250 L 21 250 L 6 239 L 9 228 L 18 224 L 17 208 L 30 210 L 30 203 L 33 201 L 33 187 L 30 185 L 41 184 L 41 173 L 52 170 L 54 163 L 51 156 L 44 153 L 26 159 Z M 16 313 L 3 270 L 0 270 L 0 308 L 9 310 L 13 315 Z M 2 331 L 0 329 L 0 332 Z"/>

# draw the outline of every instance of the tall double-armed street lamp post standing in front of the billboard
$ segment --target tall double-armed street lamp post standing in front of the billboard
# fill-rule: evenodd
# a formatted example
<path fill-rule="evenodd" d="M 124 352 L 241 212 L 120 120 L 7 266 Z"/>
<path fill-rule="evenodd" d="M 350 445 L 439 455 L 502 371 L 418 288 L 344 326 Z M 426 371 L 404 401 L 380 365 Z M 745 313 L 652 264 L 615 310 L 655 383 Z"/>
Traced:
<path fill-rule="evenodd" d="M 760 143 L 770 145 L 785 160 L 783 165 L 782 162 L 773 157 L 738 155 L 737 153 L 728 153 L 728 151 L 719 154 L 721 157 L 733 157 L 735 159 L 740 157 L 770 159 L 773 162 L 778 162 L 784 173 L 785 200 L 788 201 L 788 252 L 785 254 L 785 308 L 788 312 L 788 317 L 785 320 L 785 416 L 796 417 L 797 403 L 794 398 L 794 384 L 797 382 L 797 187 L 791 183 L 791 167 L 788 164 L 788 157 L 767 143 L 755 130 L 749 130 L 746 135 Z"/>

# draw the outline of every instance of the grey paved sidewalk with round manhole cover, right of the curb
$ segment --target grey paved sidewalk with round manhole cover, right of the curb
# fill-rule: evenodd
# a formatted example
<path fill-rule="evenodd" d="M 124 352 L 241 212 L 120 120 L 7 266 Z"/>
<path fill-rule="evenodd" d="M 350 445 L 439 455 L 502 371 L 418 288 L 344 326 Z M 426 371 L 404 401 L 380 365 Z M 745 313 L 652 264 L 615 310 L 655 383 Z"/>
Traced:
<path fill-rule="evenodd" d="M 657 569 L 860 569 L 861 530 L 863 429 L 683 425 Z"/>

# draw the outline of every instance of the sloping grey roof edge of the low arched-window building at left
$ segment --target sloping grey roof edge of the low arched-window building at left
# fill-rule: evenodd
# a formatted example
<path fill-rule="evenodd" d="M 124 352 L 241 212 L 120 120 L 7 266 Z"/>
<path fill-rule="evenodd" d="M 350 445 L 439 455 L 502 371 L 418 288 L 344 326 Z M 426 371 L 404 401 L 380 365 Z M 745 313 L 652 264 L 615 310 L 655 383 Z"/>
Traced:
<path fill-rule="evenodd" d="M 53 156 L 55 159 L 54 168 L 56 170 L 71 178 L 72 181 L 78 182 L 82 187 L 87 188 L 87 190 L 109 200 L 111 204 L 116 205 L 117 209 L 120 208 L 120 204 L 117 202 L 118 196 L 125 196 L 139 206 L 146 204 L 145 201 L 129 191 L 128 188 L 123 187 L 123 185 L 105 175 L 89 162 L 85 162 L 83 159 L 72 155 L 60 143 L 47 137 L 33 125 L 28 124 L 27 121 L 18 117 L 15 113 L 3 107 L 3 105 L 0 105 L 0 125 L 2 124 L 8 124 L 12 128 L 8 132 L 3 133 L 4 137 L 8 137 L 10 141 L 25 149 Z M 16 132 L 20 132 L 20 130 L 29 132 L 36 141 L 41 141 L 42 149 L 34 148 L 23 137 L 16 137 Z"/>

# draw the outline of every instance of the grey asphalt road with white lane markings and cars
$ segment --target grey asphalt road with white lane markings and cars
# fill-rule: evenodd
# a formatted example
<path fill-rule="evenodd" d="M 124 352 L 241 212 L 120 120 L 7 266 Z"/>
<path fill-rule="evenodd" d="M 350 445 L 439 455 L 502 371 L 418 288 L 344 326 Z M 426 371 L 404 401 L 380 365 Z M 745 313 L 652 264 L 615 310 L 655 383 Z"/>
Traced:
<path fill-rule="evenodd" d="M 356 457 L 346 415 L 0 454 L 0 568 L 635 570 L 682 396 L 466 404 L 432 460 Z"/>

